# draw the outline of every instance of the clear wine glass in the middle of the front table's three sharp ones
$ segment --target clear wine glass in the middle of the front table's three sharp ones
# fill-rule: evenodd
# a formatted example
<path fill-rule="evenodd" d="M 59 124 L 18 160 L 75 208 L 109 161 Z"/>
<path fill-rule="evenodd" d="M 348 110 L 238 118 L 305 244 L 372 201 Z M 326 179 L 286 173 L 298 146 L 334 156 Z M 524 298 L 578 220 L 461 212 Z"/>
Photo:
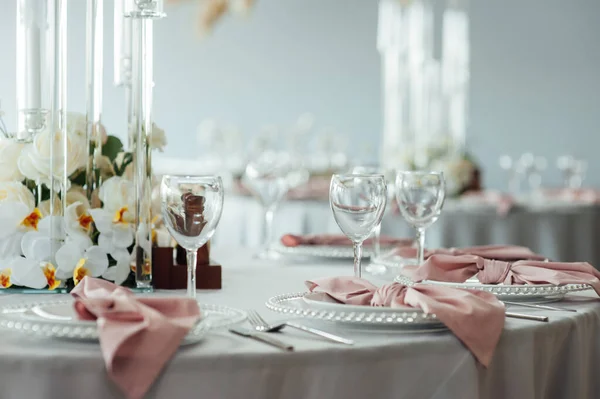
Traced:
<path fill-rule="evenodd" d="M 335 222 L 354 245 L 354 276 L 361 277 L 362 243 L 381 223 L 387 204 L 383 175 L 333 175 L 329 203 Z"/>

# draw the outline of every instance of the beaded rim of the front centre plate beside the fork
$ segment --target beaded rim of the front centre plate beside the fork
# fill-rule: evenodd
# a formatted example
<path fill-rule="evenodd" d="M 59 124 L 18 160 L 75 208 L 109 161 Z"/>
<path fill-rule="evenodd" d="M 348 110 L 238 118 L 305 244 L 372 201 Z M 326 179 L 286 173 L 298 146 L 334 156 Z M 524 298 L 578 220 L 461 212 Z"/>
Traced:
<path fill-rule="evenodd" d="M 426 314 L 421 310 L 416 311 L 386 311 L 386 312 L 356 312 L 336 310 L 303 309 L 288 305 L 287 302 L 303 298 L 310 292 L 281 294 L 269 298 L 265 305 L 270 310 L 288 315 L 306 317 L 310 319 L 325 320 L 338 323 L 368 324 L 368 325 L 432 325 L 438 326 L 441 321 L 434 314 Z"/>

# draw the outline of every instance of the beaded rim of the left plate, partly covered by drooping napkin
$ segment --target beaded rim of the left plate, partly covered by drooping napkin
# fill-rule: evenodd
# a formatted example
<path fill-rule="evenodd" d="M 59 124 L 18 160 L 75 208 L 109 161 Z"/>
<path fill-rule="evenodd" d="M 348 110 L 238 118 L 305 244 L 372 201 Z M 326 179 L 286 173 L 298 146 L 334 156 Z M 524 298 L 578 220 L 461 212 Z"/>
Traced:
<path fill-rule="evenodd" d="M 36 301 L 0 306 L 0 330 L 13 330 L 26 334 L 77 340 L 97 340 L 95 323 L 73 325 L 69 321 L 23 318 L 25 311 L 42 305 L 68 305 L 72 300 Z M 210 330 L 226 327 L 244 321 L 246 312 L 222 305 L 198 304 L 201 314 L 205 315 L 183 339 L 182 344 L 199 341 Z"/>

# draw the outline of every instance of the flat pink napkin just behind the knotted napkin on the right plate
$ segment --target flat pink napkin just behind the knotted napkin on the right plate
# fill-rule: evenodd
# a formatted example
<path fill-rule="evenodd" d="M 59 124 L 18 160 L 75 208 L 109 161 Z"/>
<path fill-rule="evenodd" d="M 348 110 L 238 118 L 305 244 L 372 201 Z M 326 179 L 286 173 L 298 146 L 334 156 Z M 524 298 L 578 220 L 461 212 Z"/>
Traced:
<path fill-rule="evenodd" d="M 403 258 L 415 258 L 417 249 L 414 247 L 400 247 L 393 252 Z M 438 248 L 426 249 L 425 259 L 433 255 L 477 255 L 486 259 L 515 261 L 522 259 L 545 260 L 546 257 L 538 255 L 527 247 L 518 245 L 476 245 L 465 248 Z"/>

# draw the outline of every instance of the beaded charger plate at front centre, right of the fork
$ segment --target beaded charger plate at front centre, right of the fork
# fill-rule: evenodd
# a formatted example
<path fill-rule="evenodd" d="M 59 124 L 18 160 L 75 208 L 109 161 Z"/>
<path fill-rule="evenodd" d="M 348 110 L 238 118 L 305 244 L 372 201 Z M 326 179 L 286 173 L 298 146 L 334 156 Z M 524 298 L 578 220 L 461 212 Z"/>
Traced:
<path fill-rule="evenodd" d="M 368 330 L 433 332 L 447 327 L 433 314 L 410 307 L 384 308 L 345 305 L 323 293 L 300 292 L 270 298 L 267 308 L 286 316 L 337 323 Z"/>

